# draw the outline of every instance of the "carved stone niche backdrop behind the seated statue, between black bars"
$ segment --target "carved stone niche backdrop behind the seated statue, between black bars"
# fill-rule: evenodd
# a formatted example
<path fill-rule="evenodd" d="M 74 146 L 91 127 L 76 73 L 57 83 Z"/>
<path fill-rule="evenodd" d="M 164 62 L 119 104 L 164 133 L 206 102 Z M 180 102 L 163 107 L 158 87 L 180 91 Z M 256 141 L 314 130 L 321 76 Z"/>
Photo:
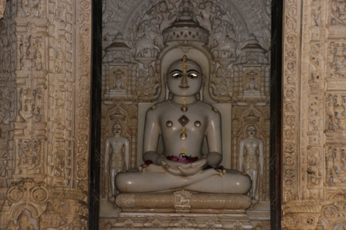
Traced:
<path fill-rule="evenodd" d="M 264 176 L 257 189 L 261 204 L 257 209 L 268 206 L 270 2 L 237 4 L 237 1 L 103 1 L 102 168 L 104 140 L 112 135 L 111 128 L 116 122 L 122 126 L 122 137 L 130 142 L 131 167 L 140 166 L 145 111 L 168 96 L 165 68 L 183 55 L 194 55 L 203 63 L 206 75 L 201 97 L 230 111 L 225 113 L 224 120 L 232 125 L 227 126 L 224 142 L 231 143 L 228 149 L 232 157 L 226 159 L 232 169 L 238 168 L 238 144 L 245 137 L 244 128 L 251 123 L 257 127 L 257 135 L 265 146 Z M 257 118 L 252 121 L 251 117 Z M 100 226 L 110 229 L 118 217 L 108 214 L 114 207 L 106 199 L 110 182 L 104 173 L 100 183 L 101 203 L 104 202 L 100 216 L 105 215 L 101 221 L 104 225 Z M 177 208 L 188 210 L 188 194 L 176 193 L 174 199 Z M 268 216 L 265 218 L 268 220 Z M 161 226 L 161 220 L 157 222 Z M 113 227 L 133 224 L 136 220 L 121 219 Z M 267 226 L 262 220 L 253 224 Z"/>

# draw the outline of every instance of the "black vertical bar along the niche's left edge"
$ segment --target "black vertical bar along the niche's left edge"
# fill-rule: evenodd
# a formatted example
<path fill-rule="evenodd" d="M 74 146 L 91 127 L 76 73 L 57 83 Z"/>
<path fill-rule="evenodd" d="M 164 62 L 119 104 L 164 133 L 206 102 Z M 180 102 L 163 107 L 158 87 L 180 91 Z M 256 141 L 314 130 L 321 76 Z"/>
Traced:
<path fill-rule="evenodd" d="M 102 2 L 92 0 L 91 16 L 91 124 L 89 154 L 89 222 L 97 230 L 100 213 L 100 147 L 102 88 Z"/>

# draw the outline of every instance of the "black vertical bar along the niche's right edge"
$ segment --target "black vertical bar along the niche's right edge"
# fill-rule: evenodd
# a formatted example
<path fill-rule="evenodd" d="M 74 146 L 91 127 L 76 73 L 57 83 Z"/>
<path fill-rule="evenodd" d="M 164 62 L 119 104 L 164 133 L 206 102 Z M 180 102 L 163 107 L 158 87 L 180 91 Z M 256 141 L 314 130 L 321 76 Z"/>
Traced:
<path fill-rule="evenodd" d="M 283 0 L 271 5 L 271 229 L 281 229 L 282 154 L 282 12 Z"/>

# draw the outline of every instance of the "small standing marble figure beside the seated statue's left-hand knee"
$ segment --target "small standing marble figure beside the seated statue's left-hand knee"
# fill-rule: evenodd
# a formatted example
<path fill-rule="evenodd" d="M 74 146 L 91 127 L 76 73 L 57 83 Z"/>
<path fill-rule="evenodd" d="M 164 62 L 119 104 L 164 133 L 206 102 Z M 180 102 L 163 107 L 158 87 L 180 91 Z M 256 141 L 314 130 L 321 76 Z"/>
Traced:
<path fill-rule="evenodd" d="M 115 178 L 117 173 L 129 169 L 129 140 L 121 136 L 122 126 L 119 122 L 113 124 L 113 137 L 108 137 L 104 143 L 104 173 L 109 176 L 111 197 L 116 198 Z"/>

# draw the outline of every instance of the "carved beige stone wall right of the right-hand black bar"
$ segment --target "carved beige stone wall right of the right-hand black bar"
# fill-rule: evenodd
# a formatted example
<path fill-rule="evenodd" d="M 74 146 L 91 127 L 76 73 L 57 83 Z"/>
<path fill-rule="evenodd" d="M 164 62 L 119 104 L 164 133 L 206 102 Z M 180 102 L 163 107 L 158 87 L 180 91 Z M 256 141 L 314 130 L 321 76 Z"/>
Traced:
<path fill-rule="evenodd" d="M 345 1 L 284 6 L 283 229 L 345 229 Z"/>

